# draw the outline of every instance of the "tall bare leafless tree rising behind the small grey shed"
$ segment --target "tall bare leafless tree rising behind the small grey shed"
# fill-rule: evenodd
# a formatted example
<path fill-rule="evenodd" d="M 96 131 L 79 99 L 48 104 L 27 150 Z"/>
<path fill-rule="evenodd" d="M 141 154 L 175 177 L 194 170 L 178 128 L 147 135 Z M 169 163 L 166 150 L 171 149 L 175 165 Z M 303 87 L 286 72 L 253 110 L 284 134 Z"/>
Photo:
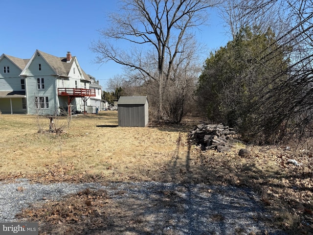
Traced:
<path fill-rule="evenodd" d="M 154 80 L 158 91 L 157 120 L 162 119 L 166 82 L 171 78 L 182 44 L 194 37 L 194 29 L 207 19 L 206 9 L 215 0 L 123 0 L 110 15 L 110 27 L 100 30 L 103 40 L 94 42 L 96 61 L 112 60 L 136 70 L 138 79 Z M 127 49 L 118 48 L 116 40 Z M 136 46 L 136 47 L 135 47 Z"/>

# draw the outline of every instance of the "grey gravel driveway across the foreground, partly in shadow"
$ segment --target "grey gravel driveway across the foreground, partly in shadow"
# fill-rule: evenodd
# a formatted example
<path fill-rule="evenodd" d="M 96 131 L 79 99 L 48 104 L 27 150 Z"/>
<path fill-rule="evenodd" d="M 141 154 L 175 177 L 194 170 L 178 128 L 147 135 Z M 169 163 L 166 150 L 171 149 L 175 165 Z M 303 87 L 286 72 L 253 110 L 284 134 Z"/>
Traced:
<path fill-rule="evenodd" d="M 269 228 L 271 215 L 246 188 L 158 182 L 100 184 L 31 184 L 26 179 L 0 183 L 0 222 L 17 222 L 15 214 L 32 204 L 60 200 L 85 188 L 105 189 L 117 207 L 142 216 L 147 234 L 173 235 L 283 235 Z M 110 209 L 114 213 L 114 206 Z M 140 211 L 140 212 L 139 212 Z M 118 215 L 112 215 L 116 218 Z M 127 231 L 127 221 L 116 220 L 112 234 L 145 234 Z M 124 224 L 125 223 L 125 224 Z M 119 233 L 118 233 L 119 232 Z M 104 234 L 110 234 L 109 231 Z"/>

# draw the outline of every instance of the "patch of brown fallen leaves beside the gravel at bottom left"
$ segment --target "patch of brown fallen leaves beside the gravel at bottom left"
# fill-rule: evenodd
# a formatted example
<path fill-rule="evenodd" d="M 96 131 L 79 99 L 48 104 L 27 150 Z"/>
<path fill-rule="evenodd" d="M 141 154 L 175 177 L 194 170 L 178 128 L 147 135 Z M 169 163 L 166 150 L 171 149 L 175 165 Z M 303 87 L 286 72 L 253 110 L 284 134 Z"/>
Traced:
<path fill-rule="evenodd" d="M 106 190 L 91 190 L 89 188 L 68 196 L 61 201 L 51 201 L 43 206 L 37 205 L 33 208 L 24 209 L 17 215 L 20 219 L 33 221 L 45 226 L 45 230 L 58 231 L 58 226 L 67 227 L 71 234 L 92 229 L 104 229 L 108 224 L 108 216 L 104 206 L 109 202 Z M 86 232 L 86 231 L 85 231 Z M 87 233 L 87 232 L 86 232 Z"/>

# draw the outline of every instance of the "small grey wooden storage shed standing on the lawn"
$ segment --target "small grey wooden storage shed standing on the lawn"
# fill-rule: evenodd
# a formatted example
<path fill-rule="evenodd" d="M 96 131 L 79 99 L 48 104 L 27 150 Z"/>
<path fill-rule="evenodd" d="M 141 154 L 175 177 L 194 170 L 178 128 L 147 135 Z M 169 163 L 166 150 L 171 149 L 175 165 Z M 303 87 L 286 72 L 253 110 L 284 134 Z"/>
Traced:
<path fill-rule="evenodd" d="M 117 102 L 119 126 L 146 126 L 149 121 L 147 96 L 121 96 Z"/>

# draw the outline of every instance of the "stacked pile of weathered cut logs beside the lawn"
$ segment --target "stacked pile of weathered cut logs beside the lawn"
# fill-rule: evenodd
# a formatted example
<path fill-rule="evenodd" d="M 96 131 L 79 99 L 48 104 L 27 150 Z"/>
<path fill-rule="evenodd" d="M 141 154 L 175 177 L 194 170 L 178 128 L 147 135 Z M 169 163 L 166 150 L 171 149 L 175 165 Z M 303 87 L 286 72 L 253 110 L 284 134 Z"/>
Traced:
<path fill-rule="evenodd" d="M 189 139 L 201 150 L 215 149 L 219 152 L 230 150 L 230 140 L 236 137 L 232 128 L 222 124 L 200 124 L 189 133 Z"/>

